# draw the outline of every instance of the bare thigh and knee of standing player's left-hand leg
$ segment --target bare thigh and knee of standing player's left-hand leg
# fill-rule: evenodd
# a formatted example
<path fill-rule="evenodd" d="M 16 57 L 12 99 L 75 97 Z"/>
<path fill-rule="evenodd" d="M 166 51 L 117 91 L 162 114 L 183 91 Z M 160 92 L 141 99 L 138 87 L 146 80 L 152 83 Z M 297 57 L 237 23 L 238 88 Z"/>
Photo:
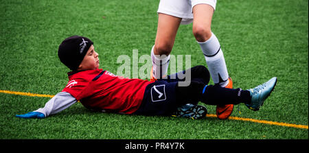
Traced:
<path fill-rule="evenodd" d="M 157 36 L 155 40 L 155 55 L 170 54 L 180 23 L 181 18 L 159 13 Z"/>

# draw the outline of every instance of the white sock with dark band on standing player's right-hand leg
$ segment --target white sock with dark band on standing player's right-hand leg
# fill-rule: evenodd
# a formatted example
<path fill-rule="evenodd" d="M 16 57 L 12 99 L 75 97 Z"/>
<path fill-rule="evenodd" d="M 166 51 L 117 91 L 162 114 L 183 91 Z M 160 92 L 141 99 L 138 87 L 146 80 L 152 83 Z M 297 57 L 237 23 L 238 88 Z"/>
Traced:
<path fill-rule="evenodd" d="M 215 84 L 227 86 L 229 84 L 229 74 L 227 73 L 227 65 L 223 56 L 222 49 L 218 38 L 211 33 L 209 40 L 198 44 L 201 46 L 205 60 L 211 74 L 211 78 Z"/>

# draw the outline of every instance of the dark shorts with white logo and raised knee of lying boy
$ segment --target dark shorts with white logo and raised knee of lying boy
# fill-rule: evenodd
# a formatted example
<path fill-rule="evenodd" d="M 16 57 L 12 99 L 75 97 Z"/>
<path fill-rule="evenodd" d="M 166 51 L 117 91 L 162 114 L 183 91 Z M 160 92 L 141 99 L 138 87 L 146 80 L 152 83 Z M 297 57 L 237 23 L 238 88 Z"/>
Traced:
<path fill-rule="evenodd" d="M 179 82 L 183 80 L 177 77 L 170 79 L 170 76 L 168 79 L 148 84 L 143 102 L 134 114 L 170 115 L 184 104 L 197 104 L 201 100 L 203 87 L 209 82 L 209 71 L 204 66 L 196 66 L 192 67 L 190 72 L 191 80 L 188 86 L 179 86 Z"/>

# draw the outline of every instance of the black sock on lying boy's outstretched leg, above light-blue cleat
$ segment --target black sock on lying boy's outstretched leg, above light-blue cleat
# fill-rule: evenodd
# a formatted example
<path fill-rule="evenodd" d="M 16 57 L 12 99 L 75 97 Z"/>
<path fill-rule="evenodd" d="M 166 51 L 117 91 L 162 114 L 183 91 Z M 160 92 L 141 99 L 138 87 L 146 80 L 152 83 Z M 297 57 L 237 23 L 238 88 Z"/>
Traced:
<path fill-rule="evenodd" d="M 206 85 L 203 88 L 201 102 L 209 105 L 250 104 L 250 92 L 242 89 L 227 89 L 216 85 Z"/>

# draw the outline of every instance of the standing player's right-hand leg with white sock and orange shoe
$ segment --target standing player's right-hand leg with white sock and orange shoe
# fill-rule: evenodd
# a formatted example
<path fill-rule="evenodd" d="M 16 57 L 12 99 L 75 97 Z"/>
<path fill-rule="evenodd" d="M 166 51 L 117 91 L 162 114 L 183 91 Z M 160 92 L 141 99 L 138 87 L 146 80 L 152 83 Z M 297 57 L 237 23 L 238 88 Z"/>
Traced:
<path fill-rule="evenodd" d="M 214 5 L 216 1 L 214 1 Z M 232 88 L 231 78 L 227 73 L 227 66 L 220 43 L 216 35 L 211 32 L 211 19 L 214 14 L 214 5 L 205 3 L 196 4 L 192 0 L 193 34 L 201 46 L 211 78 L 215 84 Z M 227 119 L 233 111 L 233 105 L 218 105 L 216 114 L 219 119 Z"/>

